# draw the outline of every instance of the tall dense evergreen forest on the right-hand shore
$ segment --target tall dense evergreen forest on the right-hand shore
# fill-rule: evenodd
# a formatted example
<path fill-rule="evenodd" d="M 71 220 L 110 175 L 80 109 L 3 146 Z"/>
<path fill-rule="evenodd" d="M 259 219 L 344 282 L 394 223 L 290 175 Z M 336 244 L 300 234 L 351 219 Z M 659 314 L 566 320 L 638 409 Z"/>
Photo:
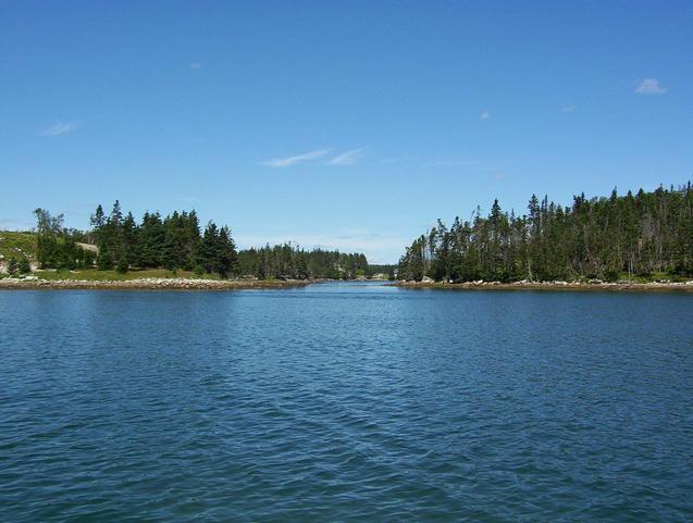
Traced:
<path fill-rule="evenodd" d="M 398 277 L 445 282 L 693 276 L 693 189 L 659 187 L 571 206 L 533 195 L 528 213 L 494 200 L 482 216 L 441 220 L 399 260 Z"/>

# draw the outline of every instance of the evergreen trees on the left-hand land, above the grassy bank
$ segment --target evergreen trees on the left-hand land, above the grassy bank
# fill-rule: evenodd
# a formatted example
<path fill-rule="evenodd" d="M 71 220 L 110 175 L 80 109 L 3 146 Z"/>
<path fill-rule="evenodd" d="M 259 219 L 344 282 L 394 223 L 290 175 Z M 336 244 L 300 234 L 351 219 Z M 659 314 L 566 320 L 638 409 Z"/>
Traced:
<path fill-rule="evenodd" d="M 127 272 L 133 269 L 168 269 L 196 274 L 253 276 L 258 278 L 343 278 L 367 275 L 362 253 L 336 250 L 307 251 L 290 244 L 238 251 L 227 226 L 210 221 L 203 231 L 197 213 L 174 211 L 162 216 L 146 212 L 138 223 L 116 200 L 110 213 L 98 206 L 87 232 L 67 229 L 63 215 L 37 209 L 37 262 L 54 269 Z M 89 250 L 89 246 L 96 246 Z"/>

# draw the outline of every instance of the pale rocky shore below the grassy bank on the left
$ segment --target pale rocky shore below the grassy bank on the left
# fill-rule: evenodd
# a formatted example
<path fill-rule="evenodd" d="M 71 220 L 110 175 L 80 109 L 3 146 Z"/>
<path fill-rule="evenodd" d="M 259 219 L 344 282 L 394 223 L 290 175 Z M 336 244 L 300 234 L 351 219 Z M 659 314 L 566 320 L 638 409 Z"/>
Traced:
<path fill-rule="evenodd" d="M 311 282 L 304 279 L 194 279 L 194 278 L 139 278 L 139 279 L 44 279 L 36 276 L 0 278 L 0 289 L 143 289 L 143 290 L 237 290 L 281 289 L 301 287 Z"/>

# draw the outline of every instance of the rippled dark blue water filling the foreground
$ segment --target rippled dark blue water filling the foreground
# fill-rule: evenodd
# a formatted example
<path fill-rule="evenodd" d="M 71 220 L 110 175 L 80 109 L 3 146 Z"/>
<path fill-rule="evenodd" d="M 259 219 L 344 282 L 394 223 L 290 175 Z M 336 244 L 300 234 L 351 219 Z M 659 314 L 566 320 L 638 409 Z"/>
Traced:
<path fill-rule="evenodd" d="M 693 297 L 0 292 L 3 522 L 690 522 Z"/>

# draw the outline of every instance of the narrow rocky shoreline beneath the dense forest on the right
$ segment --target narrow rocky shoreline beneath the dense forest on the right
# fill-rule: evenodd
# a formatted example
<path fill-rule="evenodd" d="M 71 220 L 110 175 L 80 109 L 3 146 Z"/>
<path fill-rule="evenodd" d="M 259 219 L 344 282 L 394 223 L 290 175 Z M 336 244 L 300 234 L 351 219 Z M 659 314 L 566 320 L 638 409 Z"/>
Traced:
<path fill-rule="evenodd" d="M 690 282 L 398 282 L 397 287 L 420 289 L 450 289 L 450 290 L 682 290 L 693 292 L 693 281 Z"/>

